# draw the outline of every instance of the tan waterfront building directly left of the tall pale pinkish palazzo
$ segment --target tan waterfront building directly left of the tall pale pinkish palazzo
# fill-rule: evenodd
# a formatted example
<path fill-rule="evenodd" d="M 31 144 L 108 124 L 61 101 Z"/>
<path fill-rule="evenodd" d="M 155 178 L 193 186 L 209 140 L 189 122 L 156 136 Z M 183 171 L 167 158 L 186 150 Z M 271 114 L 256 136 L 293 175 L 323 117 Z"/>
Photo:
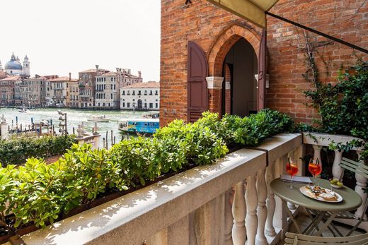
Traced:
<path fill-rule="evenodd" d="M 96 76 L 108 73 L 108 70 L 98 68 L 79 72 L 79 107 L 93 108 L 95 106 Z"/>

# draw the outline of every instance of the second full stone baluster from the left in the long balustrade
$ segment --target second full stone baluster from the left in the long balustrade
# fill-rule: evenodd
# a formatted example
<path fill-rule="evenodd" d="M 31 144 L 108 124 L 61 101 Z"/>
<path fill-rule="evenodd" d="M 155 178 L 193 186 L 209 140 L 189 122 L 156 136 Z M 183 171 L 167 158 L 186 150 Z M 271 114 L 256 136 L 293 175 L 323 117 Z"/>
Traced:
<path fill-rule="evenodd" d="M 255 244 L 255 234 L 257 234 L 258 217 L 257 217 L 258 196 L 255 189 L 255 175 L 247 178 L 246 188 L 246 232 L 248 236 L 248 245 Z"/>

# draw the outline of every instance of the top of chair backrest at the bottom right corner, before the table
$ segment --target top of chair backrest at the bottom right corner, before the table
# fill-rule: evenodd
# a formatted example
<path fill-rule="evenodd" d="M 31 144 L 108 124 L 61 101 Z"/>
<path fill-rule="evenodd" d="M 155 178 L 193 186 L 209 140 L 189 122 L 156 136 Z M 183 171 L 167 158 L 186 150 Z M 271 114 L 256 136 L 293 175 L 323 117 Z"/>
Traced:
<path fill-rule="evenodd" d="M 287 232 L 285 245 L 363 245 L 368 244 L 368 233 L 350 237 L 314 237 Z"/>

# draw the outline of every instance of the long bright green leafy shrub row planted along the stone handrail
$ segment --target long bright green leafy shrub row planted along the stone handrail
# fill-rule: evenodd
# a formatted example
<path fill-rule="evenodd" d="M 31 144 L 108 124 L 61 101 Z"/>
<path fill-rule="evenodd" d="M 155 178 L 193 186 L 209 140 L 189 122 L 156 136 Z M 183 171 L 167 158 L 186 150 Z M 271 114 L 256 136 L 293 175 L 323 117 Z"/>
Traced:
<path fill-rule="evenodd" d="M 8 165 L 0 168 L 0 226 L 8 231 L 28 224 L 45 227 L 63 213 L 88 205 L 101 193 L 144 186 L 162 173 L 189 165 L 212 164 L 228 152 L 226 145 L 259 145 L 265 138 L 293 127 L 288 116 L 268 109 L 245 118 L 226 115 L 221 120 L 217 114 L 205 112 L 195 123 L 176 120 L 159 129 L 153 138 L 132 138 L 111 150 L 74 144 L 50 165 L 33 157 L 18 168 Z M 24 149 L 30 140 L 19 142 Z M 66 141 L 57 138 L 40 142 L 45 148 L 49 147 L 45 142 L 51 142 L 61 151 Z M 33 150 L 40 148 L 41 143 L 38 148 L 33 146 Z M 30 149 L 25 150 L 25 156 L 28 152 Z M 19 160 L 23 162 L 23 158 Z M 5 218 L 10 211 L 12 222 Z"/>

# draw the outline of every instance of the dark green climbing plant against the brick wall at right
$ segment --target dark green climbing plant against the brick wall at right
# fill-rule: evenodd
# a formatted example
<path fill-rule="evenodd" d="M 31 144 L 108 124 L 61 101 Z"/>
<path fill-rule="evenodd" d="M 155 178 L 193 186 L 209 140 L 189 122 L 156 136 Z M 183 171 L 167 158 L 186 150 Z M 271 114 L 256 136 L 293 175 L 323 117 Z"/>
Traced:
<path fill-rule="evenodd" d="M 363 159 L 368 159 L 368 63 L 340 71 L 336 85 L 319 83 L 315 91 L 305 91 L 313 106 L 321 114 L 321 129 L 326 133 L 338 133 L 362 138 Z M 310 131 L 310 129 L 309 129 Z M 338 143 L 339 144 L 339 143 Z M 349 150 L 362 146 L 362 142 L 347 145 L 331 145 L 331 148 Z"/>

